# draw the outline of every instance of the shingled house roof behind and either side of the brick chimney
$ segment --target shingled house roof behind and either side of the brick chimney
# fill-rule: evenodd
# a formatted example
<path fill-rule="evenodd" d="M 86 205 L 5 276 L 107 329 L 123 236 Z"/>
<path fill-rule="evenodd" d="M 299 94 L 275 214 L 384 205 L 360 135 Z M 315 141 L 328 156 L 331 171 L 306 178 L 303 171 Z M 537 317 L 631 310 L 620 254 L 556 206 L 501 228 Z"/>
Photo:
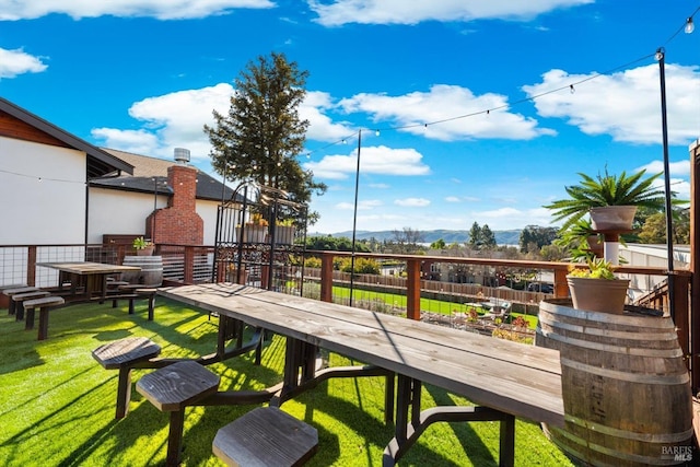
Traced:
<path fill-rule="evenodd" d="M 158 192 L 159 195 L 165 196 L 173 195 L 172 188 L 167 185 L 167 168 L 175 164 L 174 161 L 107 148 L 105 148 L 104 151 L 132 165 L 133 175 L 122 174 L 118 177 L 94 179 L 92 180 L 93 186 L 125 191 Z M 199 168 L 196 170 L 197 199 L 208 199 L 212 201 L 221 201 L 222 197 L 226 200 L 231 199 L 233 196 L 233 189 L 231 187 L 224 186 L 224 184 Z"/>

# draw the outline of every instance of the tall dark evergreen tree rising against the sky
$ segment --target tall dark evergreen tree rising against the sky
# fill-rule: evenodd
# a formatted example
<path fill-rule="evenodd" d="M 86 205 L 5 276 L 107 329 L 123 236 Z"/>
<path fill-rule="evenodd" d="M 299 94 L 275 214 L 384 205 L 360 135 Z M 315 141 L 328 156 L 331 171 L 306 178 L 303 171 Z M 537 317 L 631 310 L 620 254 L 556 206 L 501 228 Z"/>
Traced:
<path fill-rule="evenodd" d="M 215 125 L 205 126 L 211 142 L 214 170 L 229 180 L 252 179 L 283 189 L 290 200 L 308 203 L 326 185 L 314 182 L 296 160 L 303 151 L 308 120 L 299 116 L 306 95 L 307 71 L 283 54 L 272 52 L 250 61 L 235 79 L 226 115 L 213 110 Z M 310 212 L 308 223 L 318 220 Z"/>

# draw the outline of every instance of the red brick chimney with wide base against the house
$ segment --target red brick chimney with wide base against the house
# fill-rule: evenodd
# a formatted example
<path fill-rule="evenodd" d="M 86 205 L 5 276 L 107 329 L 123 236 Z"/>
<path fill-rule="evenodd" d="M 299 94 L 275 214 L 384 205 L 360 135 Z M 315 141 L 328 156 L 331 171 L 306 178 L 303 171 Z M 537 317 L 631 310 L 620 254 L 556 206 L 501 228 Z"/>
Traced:
<path fill-rule="evenodd" d="M 156 244 L 201 245 L 205 221 L 196 211 L 197 170 L 184 164 L 167 168 L 173 189 L 167 208 L 153 211 L 145 220 L 147 236 Z"/>

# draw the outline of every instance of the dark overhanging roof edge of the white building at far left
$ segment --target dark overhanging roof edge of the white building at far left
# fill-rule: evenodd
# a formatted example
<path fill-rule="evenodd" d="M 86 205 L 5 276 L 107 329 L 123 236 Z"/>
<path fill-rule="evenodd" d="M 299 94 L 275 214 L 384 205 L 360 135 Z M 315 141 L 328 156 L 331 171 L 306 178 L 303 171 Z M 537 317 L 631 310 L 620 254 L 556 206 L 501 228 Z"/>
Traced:
<path fill-rule="evenodd" d="M 124 162 L 119 157 L 90 144 L 77 136 L 58 128 L 56 125 L 46 121 L 45 119 L 2 97 L 0 97 L 0 110 L 24 121 L 39 131 L 50 135 L 69 148 L 83 151 L 88 154 L 88 178 L 104 177 L 115 172 L 132 173 L 133 166 Z"/>

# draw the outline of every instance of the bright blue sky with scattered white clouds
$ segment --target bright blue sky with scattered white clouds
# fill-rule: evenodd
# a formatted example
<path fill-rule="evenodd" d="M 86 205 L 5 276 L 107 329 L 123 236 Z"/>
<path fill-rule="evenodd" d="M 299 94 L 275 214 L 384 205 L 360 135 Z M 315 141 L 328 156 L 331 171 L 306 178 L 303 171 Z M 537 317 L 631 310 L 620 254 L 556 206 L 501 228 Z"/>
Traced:
<path fill-rule="evenodd" d="M 550 225 L 595 175 L 663 170 L 700 136 L 700 0 L 0 0 L 0 95 L 96 145 L 210 172 L 233 80 L 281 51 L 310 72 L 299 161 L 329 189 L 313 231 Z M 697 17 L 700 22 L 700 15 Z M 573 86 L 573 90 L 572 90 Z M 378 129 L 378 135 L 376 132 Z M 48 175 L 47 175 L 48 176 Z M 660 178 L 663 185 L 663 179 Z"/>

